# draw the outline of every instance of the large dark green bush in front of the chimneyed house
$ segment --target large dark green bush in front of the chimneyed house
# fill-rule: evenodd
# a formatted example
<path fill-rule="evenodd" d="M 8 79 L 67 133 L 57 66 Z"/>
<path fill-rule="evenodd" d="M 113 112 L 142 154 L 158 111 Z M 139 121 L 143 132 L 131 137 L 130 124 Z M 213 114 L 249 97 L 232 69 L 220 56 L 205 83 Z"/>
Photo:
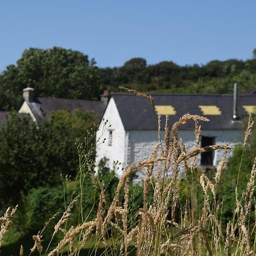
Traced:
<path fill-rule="evenodd" d="M 75 142 L 93 127 L 90 113 L 59 111 L 41 125 L 27 115 L 11 115 L 0 129 L 1 204 L 16 204 L 30 189 L 56 185 L 60 174 L 75 177 Z"/>

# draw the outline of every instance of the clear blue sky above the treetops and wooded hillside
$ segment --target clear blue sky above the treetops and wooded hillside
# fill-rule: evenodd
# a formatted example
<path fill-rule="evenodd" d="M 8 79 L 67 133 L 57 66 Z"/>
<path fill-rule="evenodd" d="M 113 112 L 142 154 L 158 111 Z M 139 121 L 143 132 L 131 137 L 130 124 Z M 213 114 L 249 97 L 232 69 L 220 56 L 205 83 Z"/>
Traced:
<path fill-rule="evenodd" d="M 256 48 L 255 13 L 255 0 L 2 0 L 0 71 L 29 47 L 74 49 L 100 67 L 132 57 L 179 65 L 246 60 Z"/>

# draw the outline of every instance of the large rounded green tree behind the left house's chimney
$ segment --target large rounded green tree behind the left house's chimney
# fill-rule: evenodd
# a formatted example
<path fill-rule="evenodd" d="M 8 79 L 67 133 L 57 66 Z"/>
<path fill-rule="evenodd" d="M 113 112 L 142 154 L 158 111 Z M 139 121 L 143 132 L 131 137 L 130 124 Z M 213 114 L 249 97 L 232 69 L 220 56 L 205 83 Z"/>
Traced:
<path fill-rule="evenodd" d="M 71 49 L 26 49 L 17 65 L 10 65 L 0 76 L 0 109 L 17 109 L 27 84 L 40 97 L 96 100 L 100 97 L 100 72 L 95 64 Z"/>

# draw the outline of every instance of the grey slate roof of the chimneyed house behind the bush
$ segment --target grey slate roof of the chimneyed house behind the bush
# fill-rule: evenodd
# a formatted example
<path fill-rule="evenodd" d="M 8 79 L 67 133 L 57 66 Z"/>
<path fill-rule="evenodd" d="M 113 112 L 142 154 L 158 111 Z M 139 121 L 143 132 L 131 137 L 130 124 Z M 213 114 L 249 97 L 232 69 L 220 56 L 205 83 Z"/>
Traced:
<path fill-rule="evenodd" d="M 89 100 L 68 100 L 63 98 L 35 98 L 33 102 L 27 102 L 37 121 L 41 122 L 48 118 L 53 111 L 68 110 L 73 112 L 75 109 L 89 111 L 100 119 L 105 110 L 105 104 L 101 101 Z"/>

